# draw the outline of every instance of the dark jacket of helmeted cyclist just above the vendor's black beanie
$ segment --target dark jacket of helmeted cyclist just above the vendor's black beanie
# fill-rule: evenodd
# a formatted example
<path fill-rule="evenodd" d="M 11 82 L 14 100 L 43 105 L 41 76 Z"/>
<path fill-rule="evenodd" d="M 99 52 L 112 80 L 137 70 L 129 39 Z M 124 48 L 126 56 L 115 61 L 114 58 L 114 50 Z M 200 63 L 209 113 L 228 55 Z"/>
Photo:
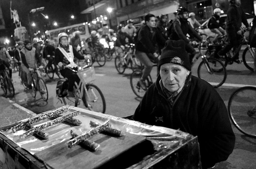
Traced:
<path fill-rule="evenodd" d="M 172 33 L 170 35 L 171 40 L 180 40 L 189 43 L 187 39 L 187 34 L 192 37 L 196 37 L 198 40 L 202 40 L 202 38 L 197 34 L 197 32 L 192 28 L 187 19 L 176 19 L 173 21 Z"/>

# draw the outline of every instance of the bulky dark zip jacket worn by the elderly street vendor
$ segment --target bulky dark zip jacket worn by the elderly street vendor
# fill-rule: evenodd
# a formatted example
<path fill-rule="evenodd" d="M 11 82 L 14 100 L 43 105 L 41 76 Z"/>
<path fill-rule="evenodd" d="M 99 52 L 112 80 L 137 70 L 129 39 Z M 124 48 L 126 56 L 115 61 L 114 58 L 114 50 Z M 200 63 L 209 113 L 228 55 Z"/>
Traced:
<path fill-rule="evenodd" d="M 227 160 L 234 149 L 235 135 L 218 92 L 206 81 L 192 76 L 171 106 L 160 79 L 159 75 L 148 88 L 132 118 L 198 136 L 203 168 Z"/>

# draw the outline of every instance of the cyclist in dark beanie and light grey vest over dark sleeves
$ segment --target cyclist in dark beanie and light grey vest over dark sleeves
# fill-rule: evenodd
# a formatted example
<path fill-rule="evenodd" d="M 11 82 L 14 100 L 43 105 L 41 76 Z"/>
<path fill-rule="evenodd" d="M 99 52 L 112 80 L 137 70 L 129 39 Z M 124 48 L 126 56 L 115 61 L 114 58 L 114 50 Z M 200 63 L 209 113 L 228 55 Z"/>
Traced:
<path fill-rule="evenodd" d="M 29 89 L 32 89 L 32 77 L 31 72 L 34 72 L 34 69 L 37 68 L 36 62 L 39 60 L 39 53 L 36 52 L 36 49 L 32 47 L 32 43 L 29 39 L 24 41 L 25 47 L 20 50 L 21 57 L 21 67 L 22 67 L 22 80 L 25 86 Z M 27 76 L 27 77 L 26 77 Z"/>

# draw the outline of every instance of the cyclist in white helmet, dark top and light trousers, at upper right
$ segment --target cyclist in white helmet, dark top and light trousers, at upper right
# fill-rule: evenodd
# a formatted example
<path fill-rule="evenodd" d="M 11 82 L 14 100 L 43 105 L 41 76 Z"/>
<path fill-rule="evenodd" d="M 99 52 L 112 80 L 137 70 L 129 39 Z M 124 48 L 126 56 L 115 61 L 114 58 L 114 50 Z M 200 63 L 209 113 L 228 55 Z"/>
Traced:
<path fill-rule="evenodd" d="M 212 15 L 210 20 L 208 21 L 207 27 L 211 30 L 211 32 L 216 34 L 215 38 L 213 39 L 213 41 L 215 42 L 218 37 L 226 35 L 226 31 L 221 27 L 221 25 L 219 23 L 221 9 L 215 8 L 213 10 L 213 13 L 214 13 L 214 15 Z"/>

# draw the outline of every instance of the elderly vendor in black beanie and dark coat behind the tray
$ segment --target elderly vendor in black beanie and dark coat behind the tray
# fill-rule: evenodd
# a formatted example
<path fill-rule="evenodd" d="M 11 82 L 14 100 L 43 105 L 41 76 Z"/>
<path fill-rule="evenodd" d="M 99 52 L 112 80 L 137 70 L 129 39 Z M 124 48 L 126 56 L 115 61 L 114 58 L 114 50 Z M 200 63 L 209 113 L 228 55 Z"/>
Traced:
<path fill-rule="evenodd" d="M 166 41 L 158 70 L 132 119 L 197 136 L 203 169 L 227 160 L 235 135 L 225 103 L 212 85 L 191 75 L 184 41 Z"/>

